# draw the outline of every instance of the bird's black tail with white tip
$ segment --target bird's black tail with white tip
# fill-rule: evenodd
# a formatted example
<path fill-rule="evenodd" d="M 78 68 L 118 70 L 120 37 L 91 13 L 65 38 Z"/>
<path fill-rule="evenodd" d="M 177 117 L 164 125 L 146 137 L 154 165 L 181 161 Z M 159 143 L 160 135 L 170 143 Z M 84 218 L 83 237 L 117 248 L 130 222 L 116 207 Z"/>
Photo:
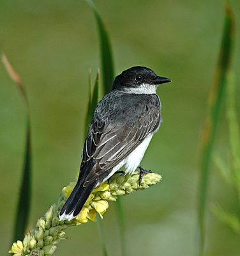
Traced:
<path fill-rule="evenodd" d="M 70 197 L 63 205 L 59 214 L 59 220 L 73 220 L 82 210 L 82 207 L 84 207 L 84 204 L 91 195 L 95 186 L 96 184 L 93 182 L 88 186 L 83 187 L 82 182 L 79 180 L 71 192 Z"/>

